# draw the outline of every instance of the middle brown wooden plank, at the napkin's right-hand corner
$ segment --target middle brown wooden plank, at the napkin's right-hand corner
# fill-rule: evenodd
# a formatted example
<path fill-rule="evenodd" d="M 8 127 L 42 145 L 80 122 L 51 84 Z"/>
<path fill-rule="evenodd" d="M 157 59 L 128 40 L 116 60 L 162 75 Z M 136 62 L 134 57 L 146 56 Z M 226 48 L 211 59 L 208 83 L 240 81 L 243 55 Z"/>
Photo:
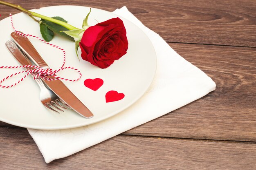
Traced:
<path fill-rule="evenodd" d="M 216 90 L 124 134 L 256 141 L 256 49 L 170 46 L 207 73 L 216 82 Z"/>

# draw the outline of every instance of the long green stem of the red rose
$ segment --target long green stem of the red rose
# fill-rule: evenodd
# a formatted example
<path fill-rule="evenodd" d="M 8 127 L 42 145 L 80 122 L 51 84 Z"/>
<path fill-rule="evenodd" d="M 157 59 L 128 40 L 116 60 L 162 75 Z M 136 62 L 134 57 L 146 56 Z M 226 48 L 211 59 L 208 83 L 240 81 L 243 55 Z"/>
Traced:
<path fill-rule="evenodd" d="M 54 18 L 49 18 L 49 17 L 47 17 L 47 16 L 40 15 L 39 13 L 31 12 L 31 11 L 29 11 L 29 10 L 27 10 L 27 9 L 24 9 L 24 8 L 20 7 L 20 5 L 11 4 L 11 3 L 9 3 L 9 2 L 4 2 L 4 1 L 2 1 L 2 0 L 0 0 L 0 4 L 4 4 L 4 5 L 8 6 L 8 7 L 14 8 L 14 9 L 18 9 L 19 11 L 22 11 L 22 12 L 26 13 L 27 15 L 31 16 L 32 18 L 33 18 L 33 16 L 34 16 L 34 17 L 42 18 L 42 19 L 44 19 L 44 20 L 53 22 L 53 23 L 55 23 L 55 24 L 64 26 L 64 27 L 65 27 L 66 29 L 68 29 L 68 30 L 78 29 L 78 28 L 76 28 L 76 27 L 74 27 L 74 26 L 72 26 L 72 25 L 70 25 L 70 24 L 67 24 L 66 22 L 63 22 L 63 21 L 60 21 L 60 20 L 56 20 L 56 19 L 54 19 Z M 33 18 L 33 19 L 38 22 L 38 20 L 36 20 L 35 18 Z M 81 30 L 81 29 L 79 29 L 79 30 Z"/>

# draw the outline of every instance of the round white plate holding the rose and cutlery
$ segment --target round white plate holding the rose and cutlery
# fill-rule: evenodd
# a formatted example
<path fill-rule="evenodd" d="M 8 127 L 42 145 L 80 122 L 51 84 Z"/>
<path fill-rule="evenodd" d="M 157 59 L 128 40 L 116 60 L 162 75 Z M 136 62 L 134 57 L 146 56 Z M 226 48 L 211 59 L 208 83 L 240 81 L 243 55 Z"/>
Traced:
<path fill-rule="evenodd" d="M 61 16 L 69 23 L 78 28 L 89 11 L 89 7 L 80 6 L 53 6 L 34 9 L 37 13 L 49 17 Z M 89 24 L 94 25 L 117 15 L 108 11 L 92 8 Z M 82 73 L 78 82 L 64 82 L 64 84 L 87 106 L 94 117 L 85 119 L 73 110 L 61 114 L 47 110 L 39 100 L 40 89 L 36 82 L 27 77 L 23 82 L 12 88 L 0 88 L 0 120 L 16 126 L 35 129 L 65 129 L 85 126 L 111 117 L 136 102 L 148 89 L 156 71 L 156 55 L 153 45 L 148 37 L 137 26 L 128 20 L 124 21 L 128 37 L 127 54 L 116 60 L 106 69 L 93 66 L 89 62 L 79 60 L 75 54 L 74 42 L 55 36 L 51 43 L 61 46 L 66 51 L 66 66 L 74 66 Z M 24 13 L 13 15 L 16 29 L 23 33 L 40 35 L 39 25 Z M 0 21 L 0 65 L 18 66 L 16 60 L 5 48 L 5 42 L 10 39 L 10 18 Z M 39 40 L 29 38 L 40 55 L 53 69 L 57 69 L 63 62 L 62 52 Z M 22 69 L 0 69 L 0 79 Z M 67 78 L 76 78 L 74 71 L 62 71 L 58 75 Z M 23 75 L 22 75 L 23 76 Z M 16 76 L 4 82 L 2 85 L 12 84 L 21 76 Z M 103 86 L 97 91 L 86 88 L 83 84 L 85 79 L 101 78 Z M 125 97 L 116 102 L 106 103 L 105 94 L 114 90 L 124 93 Z"/>

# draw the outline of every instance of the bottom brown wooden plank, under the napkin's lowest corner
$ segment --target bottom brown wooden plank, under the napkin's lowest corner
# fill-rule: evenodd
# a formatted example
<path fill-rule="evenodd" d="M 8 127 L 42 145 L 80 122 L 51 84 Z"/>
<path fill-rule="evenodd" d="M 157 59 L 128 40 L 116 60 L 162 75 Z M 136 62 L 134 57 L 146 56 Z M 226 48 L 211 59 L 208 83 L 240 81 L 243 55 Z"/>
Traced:
<path fill-rule="evenodd" d="M 256 145 L 117 136 L 46 164 L 25 129 L 0 128 L 1 169 L 255 170 Z"/>

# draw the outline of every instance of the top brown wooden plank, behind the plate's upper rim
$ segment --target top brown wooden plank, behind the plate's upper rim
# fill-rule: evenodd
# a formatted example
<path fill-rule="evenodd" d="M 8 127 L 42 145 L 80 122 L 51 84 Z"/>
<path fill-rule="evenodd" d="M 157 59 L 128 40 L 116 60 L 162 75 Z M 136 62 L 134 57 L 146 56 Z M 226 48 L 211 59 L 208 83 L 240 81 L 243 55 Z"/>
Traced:
<path fill-rule="evenodd" d="M 81 5 L 113 11 L 124 5 L 167 42 L 256 47 L 256 1 L 223 0 L 10 0 L 26 9 Z M 2 18 L 17 10 L 0 5 Z"/>

